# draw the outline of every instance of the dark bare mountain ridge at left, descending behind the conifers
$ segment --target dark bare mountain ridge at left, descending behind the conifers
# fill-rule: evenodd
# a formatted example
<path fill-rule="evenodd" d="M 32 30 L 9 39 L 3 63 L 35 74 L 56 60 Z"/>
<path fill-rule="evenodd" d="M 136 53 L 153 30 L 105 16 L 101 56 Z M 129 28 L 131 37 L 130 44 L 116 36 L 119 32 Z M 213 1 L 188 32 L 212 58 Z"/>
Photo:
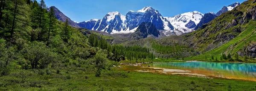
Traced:
<path fill-rule="evenodd" d="M 58 10 L 55 6 L 51 6 L 53 7 L 54 11 L 55 11 L 55 17 L 62 21 L 65 22 L 66 19 L 68 20 L 68 23 L 70 24 L 70 26 L 74 27 L 74 28 L 79 28 L 80 26 L 78 26 L 73 20 L 71 20 L 69 17 L 67 17 L 65 14 L 63 14 L 60 10 Z M 50 10 L 50 8 L 47 9 L 48 11 Z"/>

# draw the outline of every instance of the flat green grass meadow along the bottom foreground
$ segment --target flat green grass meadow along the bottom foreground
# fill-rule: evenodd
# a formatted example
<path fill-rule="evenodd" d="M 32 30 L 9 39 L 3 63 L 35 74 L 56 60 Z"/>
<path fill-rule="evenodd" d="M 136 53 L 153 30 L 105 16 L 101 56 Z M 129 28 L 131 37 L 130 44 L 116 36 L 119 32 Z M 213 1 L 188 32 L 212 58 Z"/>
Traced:
<path fill-rule="evenodd" d="M 43 73 L 43 74 L 42 74 Z M 0 77 L 0 91 L 232 91 L 256 90 L 255 82 L 206 79 L 178 75 L 153 74 L 134 71 L 102 72 L 95 77 L 90 68 L 63 68 L 59 74 L 51 70 L 16 69 L 8 76 Z"/>

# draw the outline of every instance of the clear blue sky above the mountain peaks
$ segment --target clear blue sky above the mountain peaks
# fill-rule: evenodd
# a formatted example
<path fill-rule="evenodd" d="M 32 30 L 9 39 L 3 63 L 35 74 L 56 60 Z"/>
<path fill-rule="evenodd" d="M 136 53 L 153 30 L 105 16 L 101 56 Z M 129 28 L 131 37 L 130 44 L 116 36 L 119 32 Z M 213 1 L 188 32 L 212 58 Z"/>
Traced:
<path fill-rule="evenodd" d="M 38 0 L 39 1 L 39 0 Z M 173 17 L 189 11 L 217 13 L 223 6 L 242 3 L 245 0 L 44 0 L 48 7 L 56 6 L 71 20 L 82 22 L 102 19 L 108 12 L 118 11 L 125 15 L 145 6 L 158 10 L 164 17 Z"/>

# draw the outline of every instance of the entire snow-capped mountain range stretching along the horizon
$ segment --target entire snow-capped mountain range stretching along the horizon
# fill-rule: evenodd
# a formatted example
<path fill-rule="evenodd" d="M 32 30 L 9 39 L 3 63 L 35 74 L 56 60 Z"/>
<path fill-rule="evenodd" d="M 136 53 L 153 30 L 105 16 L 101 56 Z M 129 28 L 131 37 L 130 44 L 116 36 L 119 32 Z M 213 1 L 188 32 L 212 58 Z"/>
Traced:
<path fill-rule="evenodd" d="M 230 11 L 239 5 L 240 3 L 233 3 L 227 7 L 224 6 L 217 14 L 210 12 L 209 17 L 204 17 L 204 14 L 199 11 L 186 12 L 174 17 L 163 17 L 159 11 L 152 7 L 144 7 L 138 11 L 129 11 L 125 15 L 122 15 L 117 11 L 109 12 L 105 17 L 103 17 L 103 19 L 84 21 L 77 23 L 77 25 L 90 30 L 105 31 L 109 34 L 116 34 L 133 33 L 141 23 L 151 22 L 157 30 L 160 30 L 160 32 L 163 32 L 167 36 L 169 34 L 180 35 L 194 31 L 195 28 L 199 28 L 203 24 L 214 19 L 214 15 L 219 16 L 220 14 Z M 201 21 L 203 17 L 204 21 Z"/>

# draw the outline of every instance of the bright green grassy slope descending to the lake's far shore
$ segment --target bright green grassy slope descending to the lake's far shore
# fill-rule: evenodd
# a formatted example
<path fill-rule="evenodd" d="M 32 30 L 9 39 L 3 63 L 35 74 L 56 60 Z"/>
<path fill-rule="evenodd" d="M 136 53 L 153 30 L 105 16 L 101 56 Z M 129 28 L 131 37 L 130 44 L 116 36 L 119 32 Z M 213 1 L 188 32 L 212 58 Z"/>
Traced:
<path fill-rule="evenodd" d="M 247 26 L 245 31 L 243 31 L 241 34 L 239 34 L 238 37 L 234 38 L 233 40 L 230 40 L 229 42 L 225 43 L 224 45 L 222 45 L 218 48 L 212 49 L 211 51 L 207 51 L 204 54 L 200 54 L 195 57 L 190 57 L 187 60 L 205 60 L 205 57 L 207 57 L 208 58 L 207 60 L 209 60 L 211 56 L 214 56 L 214 58 L 217 57 L 219 59 L 221 57 L 221 53 L 224 53 L 226 51 L 229 51 L 228 53 L 234 54 L 235 52 L 239 51 L 239 49 L 241 49 L 245 45 L 246 42 L 256 40 L 255 39 L 256 34 L 254 34 L 254 31 L 255 31 L 254 28 L 256 26 L 256 22 L 250 21 L 250 23 L 248 23 L 244 26 Z M 235 46 L 235 47 L 233 47 L 233 46 Z M 229 48 L 232 48 L 232 49 L 229 49 Z"/>

